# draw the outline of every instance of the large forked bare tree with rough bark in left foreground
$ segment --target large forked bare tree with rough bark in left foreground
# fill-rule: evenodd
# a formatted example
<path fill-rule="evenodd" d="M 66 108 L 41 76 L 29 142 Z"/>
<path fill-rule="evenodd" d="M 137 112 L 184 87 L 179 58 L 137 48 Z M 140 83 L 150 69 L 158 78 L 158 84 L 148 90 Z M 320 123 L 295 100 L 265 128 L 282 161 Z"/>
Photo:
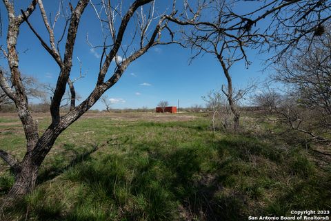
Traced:
<path fill-rule="evenodd" d="M 99 63 L 99 73 L 97 73 L 97 83 L 85 100 L 79 105 L 71 103 L 70 111 L 61 116 L 60 107 L 66 92 L 66 85 L 68 84 L 70 91 L 74 92 L 74 87 L 70 84 L 72 54 L 81 17 L 89 2 L 94 8 L 96 6 L 100 7 L 96 10 L 96 13 L 105 34 L 105 39 L 100 44 L 103 52 Z M 154 1 L 152 0 L 133 1 L 126 11 L 125 7 L 121 4 L 114 6 L 110 1 L 101 1 L 100 4 L 94 5 L 90 0 L 79 0 L 77 6 L 72 6 L 69 3 L 70 14 L 68 20 L 66 20 L 68 21 L 68 25 L 64 25 L 63 34 L 59 37 L 58 41 L 55 40 L 54 36 L 54 23 L 56 20 L 51 25 L 42 0 L 32 0 L 27 10 L 21 11 L 22 14 L 16 14 L 17 10 L 14 9 L 12 1 L 3 0 L 3 4 L 6 6 L 8 13 L 7 49 L 3 50 L 3 54 L 5 54 L 8 60 L 12 87 L 6 81 L 2 71 L 0 72 L 0 85 L 2 90 L 17 107 L 17 113 L 21 119 L 27 141 L 26 154 L 21 161 L 16 160 L 14 156 L 6 151 L 0 150 L 0 157 L 7 162 L 15 173 L 14 185 L 1 204 L 2 207 L 8 207 L 17 198 L 24 196 L 34 189 L 39 167 L 50 149 L 52 149 L 59 134 L 88 111 L 106 90 L 117 83 L 130 63 L 139 59 L 140 56 L 145 54 L 154 45 L 165 45 L 172 43 L 172 41 L 163 41 L 161 37 L 163 30 L 167 30 L 167 32 L 170 30 L 168 27 L 168 17 L 165 13 L 154 14 Z M 48 32 L 49 43 L 38 33 L 37 28 L 34 28 L 34 25 L 28 21 L 30 15 L 37 8 L 37 5 L 41 12 L 43 24 Z M 147 6 L 147 8 L 143 8 L 143 6 Z M 102 14 L 101 10 L 103 11 Z M 173 7 L 170 16 L 174 17 L 175 14 L 176 10 Z M 132 17 L 136 18 L 132 19 Z M 136 21 L 136 29 L 128 30 L 128 23 L 130 21 Z M 41 132 L 40 136 L 37 123 L 32 118 L 28 109 L 26 88 L 23 86 L 21 72 L 19 70 L 19 54 L 17 53 L 16 46 L 19 30 L 21 30 L 23 23 L 28 24 L 36 39 L 40 41 L 46 52 L 59 65 L 60 70 L 57 85 L 55 86 L 50 103 L 52 123 L 50 123 L 45 131 Z M 140 37 L 136 38 L 136 36 Z M 66 39 L 66 43 L 63 45 L 61 53 L 60 42 L 62 39 Z M 121 56 L 123 59 L 119 59 L 120 52 L 123 53 Z M 110 63 L 112 62 L 115 63 L 115 70 L 110 74 L 109 78 L 106 78 Z"/>

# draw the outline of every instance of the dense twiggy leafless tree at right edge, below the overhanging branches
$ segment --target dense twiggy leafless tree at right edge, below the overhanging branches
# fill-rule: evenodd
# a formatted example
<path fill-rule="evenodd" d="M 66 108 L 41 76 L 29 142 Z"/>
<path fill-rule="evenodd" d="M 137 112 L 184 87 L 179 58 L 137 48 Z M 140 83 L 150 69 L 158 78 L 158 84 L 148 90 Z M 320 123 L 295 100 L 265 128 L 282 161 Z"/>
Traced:
<path fill-rule="evenodd" d="M 312 41 L 304 54 L 281 59 L 277 81 L 288 88 L 290 102 L 276 109 L 291 129 L 308 134 L 311 140 L 330 142 L 331 131 L 331 32 Z"/>

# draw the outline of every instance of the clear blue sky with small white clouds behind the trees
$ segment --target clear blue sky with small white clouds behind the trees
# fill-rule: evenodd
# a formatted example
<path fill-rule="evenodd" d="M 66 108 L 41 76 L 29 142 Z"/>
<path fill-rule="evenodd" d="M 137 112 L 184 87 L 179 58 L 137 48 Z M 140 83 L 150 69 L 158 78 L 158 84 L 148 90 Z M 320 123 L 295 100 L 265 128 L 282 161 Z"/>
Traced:
<path fill-rule="evenodd" d="M 160 1 L 160 0 L 159 0 Z M 45 1 L 48 12 L 57 10 L 57 1 Z M 75 6 L 76 1 L 72 1 Z M 127 1 L 129 2 L 129 1 Z M 132 2 L 132 1 L 130 1 Z M 171 1 L 167 1 L 169 4 Z M 15 1 L 17 11 L 26 8 L 28 1 Z M 166 8 L 167 3 L 163 1 L 159 8 Z M 245 7 L 243 7 L 245 8 Z M 1 17 L 3 20 L 3 34 L 1 45 L 6 45 L 7 18 L 6 9 L 1 3 Z M 48 42 L 46 29 L 41 21 L 39 9 L 30 17 L 30 23 Z M 56 38 L 61 35 L 61 21 L 55 28 Z M 59 29 L 57 29 L 59 27 Z M 132 32 L 128 29 L 126 36 Z M 88 6 L 83 14 L 76 48 L 74 49 L 74 66 L 71 78 L 79 76 L 79 61 L 82 62 L 82 70 L 86 76 L 75 83 L 78 94 L 86 98 L 94 88 L 99 71 L 100 50 L 92 50 L 86 43 L 86 34 L 92 43 L 98 44 L 101 41 L 101 29 L 99 21 L 91 6 Z M 17 50 L 19 51 L 20 69 L 23 74 L 29 74 L 39 79 L 43 83 L 54 85 L 59 74 L 59 67 L 52 60 L 49 54 L 41 47 L 37 38 L 32 34 L 28 25 L 23 24 Z M 230 72 L 236 87 L 247 85 L 252 79 L 263 79 L 266 74 L 262 74 L 261 57 L 254 51 L 248 51 L 249 60 L 252 61 L 249 69 L 245 69 L 242 62 L 234 65 Z M 204 105 L 201 96 L 210 90 L 219 90 L 225 84 L 225 77 L 217 59 L 210 54 L 199 56 L 189 65 L 192 56 L 190 49 L 179 47 L 179 45 L 158 45 L 151 48 L 146 54 L 134 61 L 123 74 L 119 82 L 106 92 L 112 102 L 112 108 L 137 108 L 155 107 L 159 101 L 168 101 L 170 105 L 177 105 L 180 101 L 181 107 L 191 105 Z M 0 60 L 2 67 L 7 67 L 5 59 Z M 110 68 L 112 73 L 114 68 Z M 97 102 L 92 109 L 104 109 L 101 102 Z"/>

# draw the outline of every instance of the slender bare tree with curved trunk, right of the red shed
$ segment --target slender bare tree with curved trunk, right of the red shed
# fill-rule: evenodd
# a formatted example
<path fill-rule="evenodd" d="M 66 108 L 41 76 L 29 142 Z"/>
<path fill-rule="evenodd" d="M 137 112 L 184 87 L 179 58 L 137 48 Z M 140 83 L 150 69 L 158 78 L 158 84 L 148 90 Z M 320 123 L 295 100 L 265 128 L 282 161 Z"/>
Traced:
<path fill-rule="evenodd" d="M 248 32 L 239 32 L 241 28 L 235 30 L 231 28 L 232 22 L 235 20 L 230 14 L 230 6 L 232 1 L 202 1 L 196 6 L 197 10 L 194 15 L 196 20 L 191 21 L 188 18 L 182 17 L 172 19 L 180 25 L 189 25 L 192 28 L 182 31 L 184 47 L 190 47 L 196 50 L 196 54 L 192 56 L 195 59 L 200 54 L 212 54 L 219 61 L 223 74 L 226 78 L 226 85 L 222 85 L 221 92 L 225 95 L 228 101 L 228 107 L 233 116 L 233 129 L 239 129 L 240 112 L 236 101 L 243 96 L 243 92 L 234 92 L 232 76 L 230 68 L 234 63 L 244 60 L 245 66 L 248 67 L 250 62 L 245 54 L 245 49 L 254 41 L 255 35 Z M 187 10 L 192 12 L 192 6 L 187 2 Z M 212 12 L 212 14 L 210 14 Z M 208 13 L 208 19 L 203 15 Z"/>

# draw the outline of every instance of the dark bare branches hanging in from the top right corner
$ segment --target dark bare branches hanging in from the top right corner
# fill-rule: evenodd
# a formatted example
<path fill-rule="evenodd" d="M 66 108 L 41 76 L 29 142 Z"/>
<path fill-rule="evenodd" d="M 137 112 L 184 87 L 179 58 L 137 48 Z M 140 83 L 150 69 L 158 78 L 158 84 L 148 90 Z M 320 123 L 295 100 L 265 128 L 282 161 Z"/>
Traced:
<path fill-rule="evenodd" d="M 326 24 L 331 19 L 330 0 L 220 2 L 228 3 L 223 21 L 230 22 L 218 27 L 219 31 L 245 33 L 253 48 L 261 46 L 262 52 L 273 50 L 270 61 L 278 61 L 288 53 L 296 54 L 297 50 L 308 51 L 312 41 L 328 30 Z M 245 7 L 245 3 L 249 3 L 252 10 L 243 14 L 239 8 Z M 239 4 L 241 7 L 236 7 Z"/>

